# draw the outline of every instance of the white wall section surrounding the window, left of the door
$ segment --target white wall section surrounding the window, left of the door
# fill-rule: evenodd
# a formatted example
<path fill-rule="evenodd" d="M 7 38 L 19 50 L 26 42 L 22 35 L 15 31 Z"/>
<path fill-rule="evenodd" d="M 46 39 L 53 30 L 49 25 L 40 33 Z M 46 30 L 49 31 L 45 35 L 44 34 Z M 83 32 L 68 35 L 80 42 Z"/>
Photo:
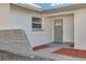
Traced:
<path fill-rule="evenodd" d="M 51 42 L 51 20 L 44 18 L 44 31 L 33 31 L 32 16 L 42 17 L 37 12 L 11 4 L 11 15 L 7 28 L 24 29 L 32 47 Z"/>

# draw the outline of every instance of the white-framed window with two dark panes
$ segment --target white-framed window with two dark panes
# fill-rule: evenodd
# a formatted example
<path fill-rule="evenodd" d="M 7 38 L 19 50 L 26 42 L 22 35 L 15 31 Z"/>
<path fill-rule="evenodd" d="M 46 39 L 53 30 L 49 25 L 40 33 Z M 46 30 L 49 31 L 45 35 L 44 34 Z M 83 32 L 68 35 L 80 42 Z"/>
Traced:
<path fill-rule="evenodd" d="M 42 20 L 39 17 L 32 17 L 32 28 L 33 28 L 33 30 L 41 30 L 42 29 Z"/>

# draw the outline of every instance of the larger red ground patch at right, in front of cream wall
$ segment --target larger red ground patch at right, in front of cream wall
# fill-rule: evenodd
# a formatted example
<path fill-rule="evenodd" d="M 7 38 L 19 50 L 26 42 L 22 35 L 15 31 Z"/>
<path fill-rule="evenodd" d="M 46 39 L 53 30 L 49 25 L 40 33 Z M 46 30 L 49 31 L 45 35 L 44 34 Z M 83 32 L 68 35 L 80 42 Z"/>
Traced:
<path fill-rule="evenodd" d="M 60 50 L 53 51 L 52 53 L 73 56 L 73 57 L 86 59 L 86 50 L 61 48 Z"/>

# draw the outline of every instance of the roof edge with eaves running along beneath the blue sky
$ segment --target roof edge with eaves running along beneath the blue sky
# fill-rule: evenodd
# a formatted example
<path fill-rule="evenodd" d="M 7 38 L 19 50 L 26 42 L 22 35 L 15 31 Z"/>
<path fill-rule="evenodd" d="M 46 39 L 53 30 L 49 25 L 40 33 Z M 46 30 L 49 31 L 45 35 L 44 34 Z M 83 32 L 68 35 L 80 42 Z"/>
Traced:
<path fill-rule="evenodd" d="M 33 4 L 29 4 L 29 3 L 13 3 L 13 4 L 20 5 L 20 7 L 36 11 L 36 12 L 42 12 L 42 13 L 61 12 L 61 11 L 74 10 L 74 9 L 85 8 L 86 7 L 86 3 L 73 3 L 70 7 L 54 8 L 54 9 L 44 11 L 44 10 L 41 10 L 41 9 L 39 9 L 39 8 L 37 8 L 37 7 L 33 5 Z"/>

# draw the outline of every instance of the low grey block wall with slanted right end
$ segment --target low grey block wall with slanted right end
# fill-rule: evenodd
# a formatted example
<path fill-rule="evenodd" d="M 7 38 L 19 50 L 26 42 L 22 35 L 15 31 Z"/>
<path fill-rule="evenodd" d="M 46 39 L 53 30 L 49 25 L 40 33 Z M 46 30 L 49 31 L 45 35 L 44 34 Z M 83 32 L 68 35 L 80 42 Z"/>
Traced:
<path fill-rule="evenodd" d="M 32 50 L 22 29 L 0 30 L 0 50 L 27 56 Z"/>

